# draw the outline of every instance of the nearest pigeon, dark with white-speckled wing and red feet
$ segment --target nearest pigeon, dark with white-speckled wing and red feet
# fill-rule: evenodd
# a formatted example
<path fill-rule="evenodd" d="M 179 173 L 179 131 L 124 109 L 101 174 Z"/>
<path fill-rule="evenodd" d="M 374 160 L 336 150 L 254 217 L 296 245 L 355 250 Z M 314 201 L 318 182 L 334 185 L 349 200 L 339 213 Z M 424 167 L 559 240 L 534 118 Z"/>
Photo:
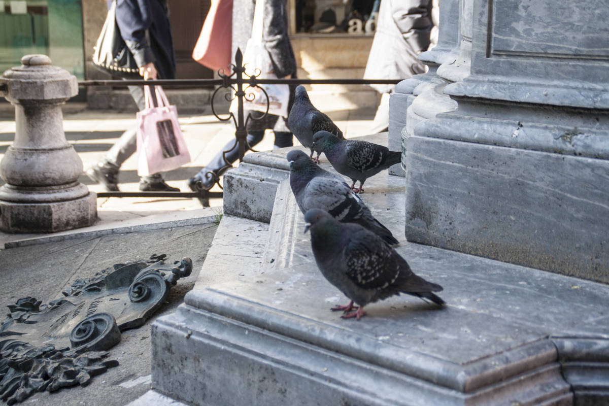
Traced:
<path fill-rule="evenodd" d="M 306 212 L 305 222 L 322 275 L 351 300 L 347 306 L 331 309 L 342 310 L 342 318 L 359 320 L 368 303 L 400 293 L 445 304 L 432 293 L 440 292 L 442 286 L 415 275 L 406 260 L 376 234 L 357 224 L 337 222 L 321 209 Z"/>

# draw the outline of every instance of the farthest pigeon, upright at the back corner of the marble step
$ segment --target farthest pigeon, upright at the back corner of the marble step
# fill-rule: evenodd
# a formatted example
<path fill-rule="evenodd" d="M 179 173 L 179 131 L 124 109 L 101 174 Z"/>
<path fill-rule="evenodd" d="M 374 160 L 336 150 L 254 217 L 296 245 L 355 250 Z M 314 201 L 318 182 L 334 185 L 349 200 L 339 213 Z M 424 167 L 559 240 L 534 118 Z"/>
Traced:
<path fill-rule="evenodd" d="M 296 88 L 294 104 L 287 117 L 287 127 L 294 133 L 300 144 L 303 144 L 306 148 L 311 148 L 313 135 L 320 130 L 329 131 L 338 138 L 345 139 L 342 131 L 336 127 L 336 124 L 332 122 L 330 117 L 317 110 L 311 104 L 309 95 L 306 93 L 305 86 L 303 85 L 298 85 Z M 317 152 L 317 158 L 314 160 L 316 163 L 319 163 L 319 155 L 322 153 L 322 150 L 317 149 L 315 151 Z M 313 158 L 313 152 L 314 149 L 311 148 L 311 159 Z"/>

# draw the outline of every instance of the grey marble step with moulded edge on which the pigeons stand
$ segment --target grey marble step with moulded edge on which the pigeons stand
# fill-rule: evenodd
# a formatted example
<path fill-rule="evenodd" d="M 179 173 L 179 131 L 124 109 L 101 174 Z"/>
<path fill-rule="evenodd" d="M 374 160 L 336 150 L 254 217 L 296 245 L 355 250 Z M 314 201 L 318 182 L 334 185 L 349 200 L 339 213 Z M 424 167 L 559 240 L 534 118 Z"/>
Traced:
<path fill-rule="evenodd" d="M 285 154 L 252 154 L 269 167 L 225 176 L 252 194 L 264 181 L 244 174 L 287 178 Z M 367 185 L 398 252 L 448 306 L 399 296 L 359 322 L 329 311 L 347 299 L 320 275 L 278 180 L 270 223 L 225 214 L 185 303 L 153 324 L 147 404 L 609 404 L 607 285 L 409 243 L 404 178 Z"/>

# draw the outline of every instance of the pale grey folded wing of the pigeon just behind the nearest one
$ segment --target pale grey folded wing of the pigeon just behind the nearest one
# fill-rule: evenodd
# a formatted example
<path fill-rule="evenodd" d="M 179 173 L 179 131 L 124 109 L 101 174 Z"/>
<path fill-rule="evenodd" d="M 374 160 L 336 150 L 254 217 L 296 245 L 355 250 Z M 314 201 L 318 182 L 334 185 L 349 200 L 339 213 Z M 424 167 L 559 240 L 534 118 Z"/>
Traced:
<path fill-rule="evenodd" d="M 323 209 L 339 221 L 351 221 L 364 215 L 361 199 L 351 187 L 336 177 L 315 177 L 306 187 L 302 199 L 305 212 L 309 209 Z"/>

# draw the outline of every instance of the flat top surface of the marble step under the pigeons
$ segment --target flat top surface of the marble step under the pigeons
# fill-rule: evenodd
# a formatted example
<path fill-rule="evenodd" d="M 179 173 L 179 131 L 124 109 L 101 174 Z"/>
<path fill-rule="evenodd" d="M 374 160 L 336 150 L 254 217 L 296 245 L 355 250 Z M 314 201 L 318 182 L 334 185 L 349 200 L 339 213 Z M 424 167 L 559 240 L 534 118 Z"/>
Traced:
<path fill-rule="evenodd" d="M 373 215 L 400 236 L 403 179 L 381 174 L 369 182 L 362 198 Z M 449 305 L 438 310 L 417 298 L 399 296 L 367 306 L 369 316 L 360 323 L 341 320 L 328 309 L 348 299 L 319 273 L 309 236 L 303 234 L 304 220 L 290 197 L 292 214 L 285 215 L 295 223 L 271 223 L 269 234 L 289 228 L 286 240 L 291 241 L 266 247 L 264 275 L 203 289 L 461 365 L 548 335 L 609 338 L 607 285 L 409 243 L 404 237 L 396 250 L 415 273 L 445 287 L 440 296 Z M 280 255 L 286 259 L 273 266 Z"/>

